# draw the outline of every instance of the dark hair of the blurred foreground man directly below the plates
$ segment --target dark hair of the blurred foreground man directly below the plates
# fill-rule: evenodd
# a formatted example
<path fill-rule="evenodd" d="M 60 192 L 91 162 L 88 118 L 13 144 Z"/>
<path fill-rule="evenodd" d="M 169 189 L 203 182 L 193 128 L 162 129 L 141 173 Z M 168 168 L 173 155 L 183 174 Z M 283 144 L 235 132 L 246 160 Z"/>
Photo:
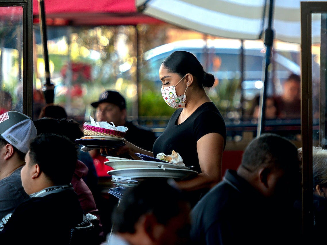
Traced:
<path fill-rule="evenodd" d="M 135 233 L 135 225 L 146 214 L 152 214 L 164 226 L 174 217 L 189 210 L 189 203 L 181 191 L 167 183 L 167 180 L 144 180 L 130 188 L 112 213 L 113 231 Z M 181 238 L 188 237 L 189 221 L 180 227 Z M 183 233 L 184 231 L 185 233 Z M 169 236 L 169 234 L 166 234 Z"/>

